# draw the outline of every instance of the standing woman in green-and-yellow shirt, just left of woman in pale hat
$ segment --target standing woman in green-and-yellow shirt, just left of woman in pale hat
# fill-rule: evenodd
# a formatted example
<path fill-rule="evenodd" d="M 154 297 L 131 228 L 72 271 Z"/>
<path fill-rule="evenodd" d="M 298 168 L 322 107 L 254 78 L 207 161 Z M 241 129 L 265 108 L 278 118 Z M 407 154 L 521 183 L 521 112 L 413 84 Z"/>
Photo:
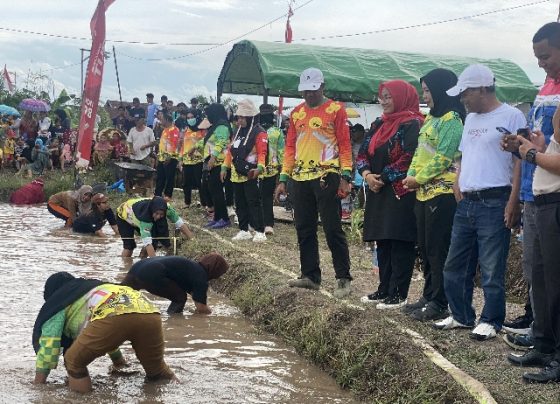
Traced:
<path fill-rule="evenodd" d="M 212 229 L 222 229 L 231 224 L 220 172 L 232 131 L 226 110 L 222 104 L 210 104 L 205 112 L 206 119 L 211 126 L 206 131 L 204 139 L 199 141 L 197 147 L 202 147 L 203 150 L 202 175 L 207 177 L 208 190 L 214 207 L 214 217 L 206 226 Z"/>

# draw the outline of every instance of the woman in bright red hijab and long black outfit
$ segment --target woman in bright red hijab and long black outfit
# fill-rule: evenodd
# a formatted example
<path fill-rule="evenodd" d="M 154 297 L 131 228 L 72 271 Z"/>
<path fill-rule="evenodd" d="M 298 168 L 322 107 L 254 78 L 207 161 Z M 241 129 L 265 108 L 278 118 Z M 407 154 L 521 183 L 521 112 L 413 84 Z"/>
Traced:
<path fill-rule="evenodd" d="M 406 304 L 414 267 L 416 219 L 414 192 L 402 181 L 418 144 L 424 122 L 418 93 L 409 83 L 393 80 L 379 86 L 383 115 L 372 125 L 356 160 L 367 184 L 363 239 L 375 241 L 379 286 L 362 297 L 378 309 Z"/>

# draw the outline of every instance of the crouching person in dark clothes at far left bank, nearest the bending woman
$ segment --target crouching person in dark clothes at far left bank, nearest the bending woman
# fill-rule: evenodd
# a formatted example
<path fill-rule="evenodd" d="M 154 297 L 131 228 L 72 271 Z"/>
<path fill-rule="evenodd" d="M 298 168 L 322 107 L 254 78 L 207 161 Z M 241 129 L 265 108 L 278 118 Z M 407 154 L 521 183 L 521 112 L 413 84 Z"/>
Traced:
<path fill-rule="evenodd" d="M 109 225 L 119 235 L 117 220 L 113 209 L 109 206 L 109 198 L 104 194 L 95 194 L 91 198 L 91 213 L 78 216 L 72 223 L 72 230 L 76 233 L 95 234 L 99 237 L 106 237 L 103 233 L 103 226 L 109 222 Z"/>

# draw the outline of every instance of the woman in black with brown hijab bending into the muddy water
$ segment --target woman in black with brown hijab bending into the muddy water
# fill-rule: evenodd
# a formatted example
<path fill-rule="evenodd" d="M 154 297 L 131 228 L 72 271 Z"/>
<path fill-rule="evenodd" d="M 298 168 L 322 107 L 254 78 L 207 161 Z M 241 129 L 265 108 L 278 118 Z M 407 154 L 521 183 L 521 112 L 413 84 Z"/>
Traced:
<path fill-rule="evenodd" d="M 226 273 L 229 265 L 219 254 L 211 253 L 194 261 L 185 257 L 155 257 L 135 263 L 121 285 L 145 289 L 153 295 L 171 300 L 169 314 L 182 313 L 191 295 L 195 313 L 210 314 L 208 281 Z"/>

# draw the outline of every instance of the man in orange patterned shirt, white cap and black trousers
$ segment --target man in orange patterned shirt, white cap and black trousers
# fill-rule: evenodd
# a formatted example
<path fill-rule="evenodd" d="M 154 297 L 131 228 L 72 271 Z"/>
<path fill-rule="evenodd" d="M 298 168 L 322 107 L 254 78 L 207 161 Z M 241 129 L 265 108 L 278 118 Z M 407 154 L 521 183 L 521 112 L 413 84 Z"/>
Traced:
<path fill-rule="evenodd" d="M 323 90 L 323 73 L 316 68 L 304 70 L 298 91 L 305 102 L 295 107 L 290 117 L 276 199 L 286 193 L 286 182 L 291 177 L 301 276 L 289 285 L 320 288 L 319 214 L 336 273 L 334 295 L 343 298 L 351 292 L 352 277 L 339 197 L 350 191 L 352 146 L 346 110 L 340 103 L 326 98 Z"/>

